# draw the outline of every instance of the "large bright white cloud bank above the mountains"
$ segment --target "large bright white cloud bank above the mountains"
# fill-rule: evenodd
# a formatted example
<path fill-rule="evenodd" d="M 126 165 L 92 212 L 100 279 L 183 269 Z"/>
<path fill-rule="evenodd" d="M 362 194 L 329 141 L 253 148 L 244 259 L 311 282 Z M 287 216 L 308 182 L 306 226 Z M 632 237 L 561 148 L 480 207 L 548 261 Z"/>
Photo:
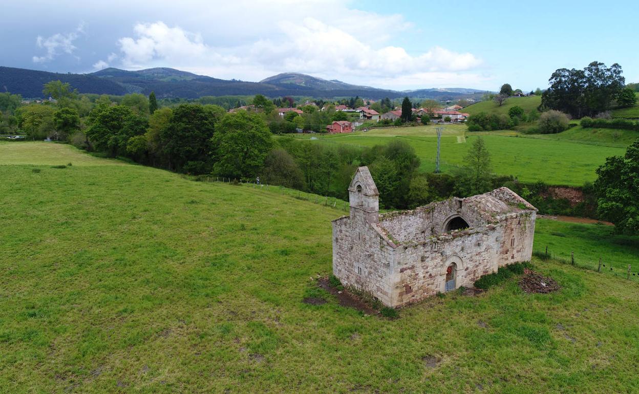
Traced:
<path fill-rule="evenodd" d="M 394 89 L 486 81 L 478 73 L 481 59 L 470 52 L 394 42 L 412 28 L 401 15 L 353 10 L 338 0 L 236 0 L 216 12 L 217 22 L 208 26 L 204 14 L 193 15 L 189 26 L 196 30 L 162 21 L 135 24 L 134 34 L 118 40 L 119 63 L 242 80 L 301 72 Z M 105 63 L 114 64 L 118 56 L 111 55 Z"/>

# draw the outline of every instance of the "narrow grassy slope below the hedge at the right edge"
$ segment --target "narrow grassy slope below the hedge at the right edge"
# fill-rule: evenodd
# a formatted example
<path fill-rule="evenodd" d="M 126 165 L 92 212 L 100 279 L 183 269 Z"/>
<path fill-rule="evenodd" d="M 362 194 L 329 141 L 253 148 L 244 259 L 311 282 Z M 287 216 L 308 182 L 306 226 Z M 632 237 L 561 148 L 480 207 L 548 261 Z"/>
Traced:
<path fill-rule="evenodd" d="M 597 127 L 583 128 L 576 126 L 557 134 L 533 134 L 525 135 L 525 137 L 625 148 L 639 138 L 639 132 L 633 130 L 615 130 L 612 128 Z"/>

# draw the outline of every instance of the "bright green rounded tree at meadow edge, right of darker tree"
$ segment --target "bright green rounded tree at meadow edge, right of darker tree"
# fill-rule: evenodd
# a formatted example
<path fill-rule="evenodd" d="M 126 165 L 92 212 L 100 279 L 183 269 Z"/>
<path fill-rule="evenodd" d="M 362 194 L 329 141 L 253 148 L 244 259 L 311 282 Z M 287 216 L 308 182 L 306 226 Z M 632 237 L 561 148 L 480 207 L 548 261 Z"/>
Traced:
<path fill-rule="evenodd" d="M 257 114 L 226 114 L 211 139 L 213 172 L 229 178 L 253 178 L 259 174 L 273 142 L 266 123 Z"/>

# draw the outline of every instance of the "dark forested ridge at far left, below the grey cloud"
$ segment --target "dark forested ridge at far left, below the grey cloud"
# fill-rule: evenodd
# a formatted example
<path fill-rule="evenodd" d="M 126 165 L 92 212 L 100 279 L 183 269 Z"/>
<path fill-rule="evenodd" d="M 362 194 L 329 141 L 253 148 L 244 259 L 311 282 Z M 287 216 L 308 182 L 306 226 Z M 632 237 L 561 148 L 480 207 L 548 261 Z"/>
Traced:
<path fill-rule="evenodd" d="M 90 74 L 62 74 L 24 68 L 0 66 L 0 91 L 22 95 L 24 98 L 42 97 L 42 87 L 51 80 L 68 82 L 80 93 L 125 95 L 127 89 L 111 80 Z"/>

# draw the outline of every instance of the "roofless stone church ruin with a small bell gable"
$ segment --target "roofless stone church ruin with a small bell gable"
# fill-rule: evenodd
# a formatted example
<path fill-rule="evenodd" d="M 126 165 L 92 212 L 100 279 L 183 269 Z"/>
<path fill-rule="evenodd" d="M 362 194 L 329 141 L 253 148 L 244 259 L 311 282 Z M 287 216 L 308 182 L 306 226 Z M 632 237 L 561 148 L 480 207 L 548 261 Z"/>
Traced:
<path fill-rule="evenodd" d="M 537 209 L 509 188 L 380 214 L 373 177 L 359 167 L 348 193 L 350 215 L 332 222 L 333 273 L 388 307 L 530 261 Z"/>

